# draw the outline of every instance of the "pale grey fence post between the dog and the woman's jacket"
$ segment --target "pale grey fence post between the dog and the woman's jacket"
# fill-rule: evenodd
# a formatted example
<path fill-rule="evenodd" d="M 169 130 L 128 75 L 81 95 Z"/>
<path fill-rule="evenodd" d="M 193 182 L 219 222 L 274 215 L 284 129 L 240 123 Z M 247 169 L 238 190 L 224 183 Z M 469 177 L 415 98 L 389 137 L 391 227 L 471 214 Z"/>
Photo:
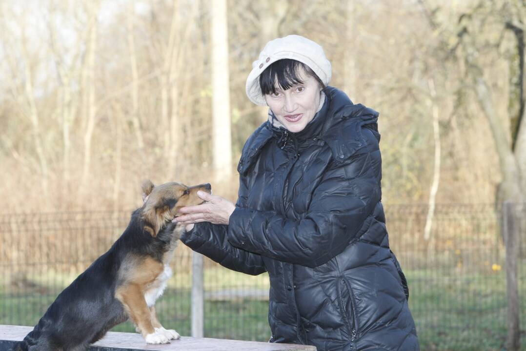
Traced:
<path fill-rule="evenodd" d="M 203 255 L 192 252 L 192 336 L 204 336 Z"/>

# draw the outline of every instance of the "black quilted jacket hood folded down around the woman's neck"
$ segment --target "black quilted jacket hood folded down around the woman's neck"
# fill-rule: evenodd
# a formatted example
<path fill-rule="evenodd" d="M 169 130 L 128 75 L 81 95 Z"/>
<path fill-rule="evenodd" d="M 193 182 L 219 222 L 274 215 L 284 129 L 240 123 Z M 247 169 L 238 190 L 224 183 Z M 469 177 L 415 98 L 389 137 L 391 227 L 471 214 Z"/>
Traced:
<path fill-rule="evenodd" d="M 359 139 L 348 138 L 349 133 L 359 132 L 363 125 L 369 124 L 377 129 L 379 113 L 362 104 L 353 104 L 345 92 L 337 88 L 328 86 L 323 91 L 328 107 L 319 138 L 331 148 L 335 160 L 343 162 L 364 146 Z M 237 168 L 239 174 L 248 170 L 261 148 L 272 139 L 275 133 L 272 128 L 266 121 L 248 138 L 241 152 Z"/>

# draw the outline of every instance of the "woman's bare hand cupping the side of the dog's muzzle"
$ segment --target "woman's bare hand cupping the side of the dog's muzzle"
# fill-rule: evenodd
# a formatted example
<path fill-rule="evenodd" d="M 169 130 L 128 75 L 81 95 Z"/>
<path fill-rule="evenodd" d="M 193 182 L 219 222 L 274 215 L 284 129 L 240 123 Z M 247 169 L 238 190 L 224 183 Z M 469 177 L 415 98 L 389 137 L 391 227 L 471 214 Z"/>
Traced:
<path fill-rule="evenodd" d="M 172 222 L 187 224 L 210 222 L 213 224 L 227 224 L 230 215 L 236 209 L 236 205 L 220 196 L 211 195 L 204 191 L 198 191 L 197 196 L 206 202 L 196 206 L 187 206 L 179 209 L 184 213 L 174 218 Z"/>

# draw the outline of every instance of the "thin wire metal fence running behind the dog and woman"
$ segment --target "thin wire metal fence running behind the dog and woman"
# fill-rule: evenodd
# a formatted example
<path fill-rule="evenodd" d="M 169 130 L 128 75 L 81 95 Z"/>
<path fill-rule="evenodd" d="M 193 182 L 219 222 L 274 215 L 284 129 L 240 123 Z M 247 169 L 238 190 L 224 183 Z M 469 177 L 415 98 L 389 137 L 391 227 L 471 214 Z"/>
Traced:
<path fill-rule="evenodd" d="M 502 209 L 438 205 L 428 240 L 423 238 L 427 206 L 385 209 L 390 245 L 408 278 L 421 349 L 504 349 L 508 303 Z M 522 243 L 517 308 L 524 324 L 526 216 L 518 206 L 515 210 Z M 35 325 L 58 293 L 118 238 L 130 213 L 1 215 L 0 324 Z M 191 255 L 179 245 L 174 277 L 156 304 L 161 323 L 182 335 L 190 335 Z M 268 340 L 268 287 L 265 274 L 248 276 L 205 259 L 204 336 Z M 134 327 L 127 322 L 114 330 L 133 332 Z"/>

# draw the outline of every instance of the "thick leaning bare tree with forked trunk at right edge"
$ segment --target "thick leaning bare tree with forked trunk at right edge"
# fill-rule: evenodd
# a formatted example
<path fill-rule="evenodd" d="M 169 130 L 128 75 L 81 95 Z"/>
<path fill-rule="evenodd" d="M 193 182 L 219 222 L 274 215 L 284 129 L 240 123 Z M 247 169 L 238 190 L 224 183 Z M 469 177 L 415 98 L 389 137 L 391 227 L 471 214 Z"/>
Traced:
<path fill-rule="evenodd" d="M 504 39 L 504 32 L 507 30 L 507 20 L 509 16 L 509 3 L 503 2 L 501 4 L 478 2 L 473 6 L 471 12 L 459 14 L 458 25 L 452 26 L 451 23 L 440 24 L 434 17 L 437 14 L 437 7 L 435 11 L 431 11 L 429 5 L 421 1 L 421 4 L 426 12 L 429 22 L 433 28 L 440 30 L 442 28 L 441 40 L 447 43 L 450 40 L 450 33 L 443 30 L 444 27 L 449 26 L 456 28 L 456 36 L 458 40 L 453 47 L 444 44 L 444 49 L 449 50 L 451 58 L 456 57 L 463 60 L 466 67 L 466 83 L 472 88 L 477 102 L 487 119 L 492 137 L 495 145 L 495 151 L 498 154 L 500 171 L 502 174 L 502 181 L 499 185 L 497 194 L 498 202 L 512 201 L 515 203 L 523 203 L 526 201 L 526 190 L 524 189 L 523 181 L 526 175 L 521 174 L 520 158 L 523 156 L 523 150 L 517 148 L 517 141 L 522 143 L 523 134 L 526 129 L 522 128 L 523 123 L 519 120 L 514 127 L 514 130 L 505 127 L 505 121 L 513 119 L 513 116 L 501 116 L 497 102 L 494 99 L 495 92 L 492 91 L 491 82 L 488 81 L 488 76 L 484 75 L 488 71 L 487 62 L 483 59 L 482 53 L 490 53 L 495 50 L 500 42 Z M 523 10 L 524 12 L 524 10 Z M 521 12 L 515 12 L 515 15 Z M 500 28 L 499 28 L 500 27 Z M 491 42 L 481 33 L 487 30 L 500 30 L 501 35 L 496 38 L 497 42 Z M 448 36 L 449 35 L 449 36 Z M 520 48 L 521 44 L 518 44 Z M 494 54 L 493 54 L 494 56 Z M 523 75 L 519 71 L 519 75 Z M 522 78 L 519 78 L 521 80 Z M 520 94 L 523 94 L 522 91 Z M 521 97 L 522 99 L 522 97 Z M 522 119 L 523 112 L 521 110 L 520 119 Z M 503 118 L 505 117 L 505 118 Z"/>

